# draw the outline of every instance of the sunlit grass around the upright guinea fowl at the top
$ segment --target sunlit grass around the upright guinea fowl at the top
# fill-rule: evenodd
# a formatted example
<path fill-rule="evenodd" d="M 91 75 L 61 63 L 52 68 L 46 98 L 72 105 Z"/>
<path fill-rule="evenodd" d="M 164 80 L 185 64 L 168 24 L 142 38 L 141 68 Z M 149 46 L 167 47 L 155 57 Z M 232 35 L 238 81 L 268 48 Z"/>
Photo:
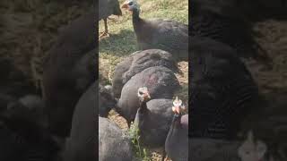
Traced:
<path fill-rule="evenodd" d="M 119 3 L 123 4 L 124 0 L 119 0 Z M 139 0 L 138 4 L 141 6 L 140 16 L 143 19 L 168 18 L 188 23 L 187 0 Z M 122 12 L 123 16 L 115 21 L 108 20 L 109 38 L 103 38 L 99 42 L 100 61 L 109 60 L 109 64 L 100 66 L 100 80 L 103 83 L 110 83 L 107 73 L 112 77 L 117 63 L 137 50 L 132 15 L 124 10 Z M 99 31 L 103 30 L 103 21 L 99 21 Z"/>

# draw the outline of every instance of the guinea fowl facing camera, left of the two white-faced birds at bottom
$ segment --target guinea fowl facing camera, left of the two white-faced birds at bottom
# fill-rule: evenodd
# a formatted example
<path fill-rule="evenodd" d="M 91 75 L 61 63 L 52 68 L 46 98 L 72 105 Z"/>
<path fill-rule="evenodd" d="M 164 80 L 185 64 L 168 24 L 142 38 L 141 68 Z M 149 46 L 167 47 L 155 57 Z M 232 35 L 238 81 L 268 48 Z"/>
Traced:
<path fill-rule="evenodd" d="M 135 115 L 140 143 L 148 148 L 160 148 L 164 152 L 164 142 L 170 130 L 172 120 L 171 99 L 151 99 L 146 87 L 139 88 L 137 95 L 140 106 Z M 165 152 L 162 155 L 162 160 Z"/>

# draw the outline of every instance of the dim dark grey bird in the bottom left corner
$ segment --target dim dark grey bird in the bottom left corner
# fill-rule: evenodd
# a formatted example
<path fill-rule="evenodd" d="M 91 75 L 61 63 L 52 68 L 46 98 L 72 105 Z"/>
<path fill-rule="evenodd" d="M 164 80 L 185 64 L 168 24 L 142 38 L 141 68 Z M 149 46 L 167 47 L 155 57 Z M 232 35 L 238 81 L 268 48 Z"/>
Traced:
<path fill-rule="evenodd" d="M 0 160 L 51 161 L 60 147 L 47 131 L 43 101 L 25 96 L 11 102 L 0 116 Z"/>

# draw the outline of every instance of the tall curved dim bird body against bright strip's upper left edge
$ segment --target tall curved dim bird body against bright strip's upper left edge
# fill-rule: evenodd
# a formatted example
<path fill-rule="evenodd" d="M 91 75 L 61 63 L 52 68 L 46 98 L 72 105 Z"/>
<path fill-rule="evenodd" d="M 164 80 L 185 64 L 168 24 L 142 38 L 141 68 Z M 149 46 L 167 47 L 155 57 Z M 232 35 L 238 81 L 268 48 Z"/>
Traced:
<path fill-rule="evenodd" d="M 96 79 L 93 12 L 74 20 L 59 33 L 44 64 L 43 86 L 49 130 L 58 137 L 69 136 L 74 106 Z"/>

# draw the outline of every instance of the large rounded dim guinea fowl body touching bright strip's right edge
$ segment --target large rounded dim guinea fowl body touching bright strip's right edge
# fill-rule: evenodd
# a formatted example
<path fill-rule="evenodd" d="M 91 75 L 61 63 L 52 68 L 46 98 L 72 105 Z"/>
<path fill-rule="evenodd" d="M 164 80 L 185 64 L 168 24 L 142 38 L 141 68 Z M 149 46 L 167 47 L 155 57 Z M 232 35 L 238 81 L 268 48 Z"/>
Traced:
<path fill-rule="evenodd" d="M 243 117 L 257 106 L 257 84 L 232 48 L 210 38 L 190 38 L 190 44 L 189 133 L 196 138 L 236 138 Z"/>

